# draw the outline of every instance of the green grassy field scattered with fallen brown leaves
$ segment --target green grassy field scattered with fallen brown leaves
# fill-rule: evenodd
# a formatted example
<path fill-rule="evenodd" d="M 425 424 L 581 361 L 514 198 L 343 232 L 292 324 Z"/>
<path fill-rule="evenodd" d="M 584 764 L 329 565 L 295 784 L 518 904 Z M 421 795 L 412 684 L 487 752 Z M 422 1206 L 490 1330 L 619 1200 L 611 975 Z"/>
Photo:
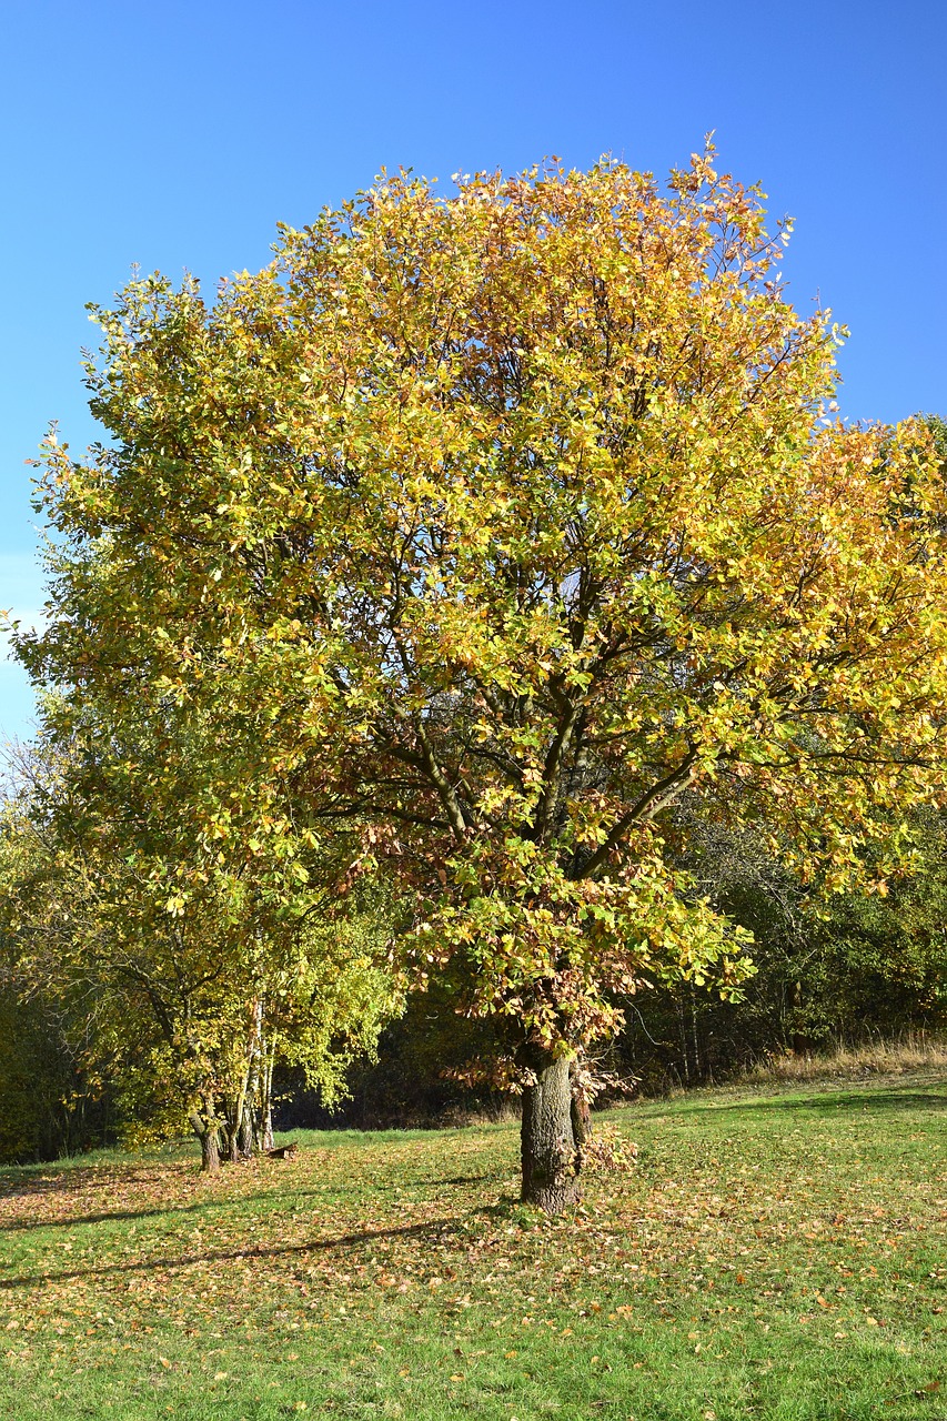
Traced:
<path fill-rule="evenodd" d="M 0 1415 L 947 1421 L 947 1073 L 616 1111 L 553 1222 L 512 1125 L 0 1177 Z"/>

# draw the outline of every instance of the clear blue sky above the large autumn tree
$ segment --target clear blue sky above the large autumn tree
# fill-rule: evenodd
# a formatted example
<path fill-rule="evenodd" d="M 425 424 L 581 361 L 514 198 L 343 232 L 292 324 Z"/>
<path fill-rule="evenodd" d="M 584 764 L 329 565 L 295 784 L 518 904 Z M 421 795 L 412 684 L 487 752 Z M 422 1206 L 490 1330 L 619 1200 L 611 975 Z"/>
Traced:
<path fill-rule="evenodd" d="M 381 166 L 444 182 L 547 153 L 665 172 L 715 129 L 852 330 L 842 411 L 947 414 L 946 0 L 10 0 L 0 51 L 0 607 L 41 605 L 31 458 L 94 438 L 85 301 L 132 263 L 209 286 Z M 31 698 L 0 662 L 0 730 Z"/>

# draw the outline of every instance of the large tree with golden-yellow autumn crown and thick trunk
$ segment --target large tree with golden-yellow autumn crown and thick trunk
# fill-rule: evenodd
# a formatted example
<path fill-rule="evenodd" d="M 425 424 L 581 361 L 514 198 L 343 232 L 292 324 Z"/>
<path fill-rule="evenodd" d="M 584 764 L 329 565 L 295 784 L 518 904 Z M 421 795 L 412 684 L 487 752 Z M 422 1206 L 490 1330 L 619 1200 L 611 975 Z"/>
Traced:
<path fill-rule="evenodd" d="M 549 1211 L 619 998 L 749 969 L 674 803 L 762 806 L 842 885 L 943 789 L 941 480 L 920 426 L 833 419 L 786 234 L 711 151 L 665 193 L 614 162 L 385 178 L 210 306 L 132 283 L 88 375 L 111 442 L 46 450 L 23 661 L 65 722 L 95 695 L 155 743 L 205 728 L 208 851 L 344 828 L 414 887 L 418 978 L 464 959 L 466 1009 L 515 1027 Z"/>

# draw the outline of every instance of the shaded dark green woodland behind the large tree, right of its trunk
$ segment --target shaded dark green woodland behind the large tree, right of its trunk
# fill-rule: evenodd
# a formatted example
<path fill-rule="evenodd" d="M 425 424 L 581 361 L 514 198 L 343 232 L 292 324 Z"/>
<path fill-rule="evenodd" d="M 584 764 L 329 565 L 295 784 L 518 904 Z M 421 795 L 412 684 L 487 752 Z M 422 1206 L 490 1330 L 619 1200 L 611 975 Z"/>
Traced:
<path fill-rule="evenodd" d="M 690 985 L 651 993 L 617 1043 L 627 1069 L 694 1083 L 832 1040 L 941 1030 L 944 821 L 930 809 L 907 818 L 913 850 L 897 874 L 879 881 L 869 861 L 862 884 L 828 894 L 774 854 L 765 824 L 731 831 L 695 806 L 685 861 L 714 907 L 752 932 L 756 971 L 741 1002 Z"/>

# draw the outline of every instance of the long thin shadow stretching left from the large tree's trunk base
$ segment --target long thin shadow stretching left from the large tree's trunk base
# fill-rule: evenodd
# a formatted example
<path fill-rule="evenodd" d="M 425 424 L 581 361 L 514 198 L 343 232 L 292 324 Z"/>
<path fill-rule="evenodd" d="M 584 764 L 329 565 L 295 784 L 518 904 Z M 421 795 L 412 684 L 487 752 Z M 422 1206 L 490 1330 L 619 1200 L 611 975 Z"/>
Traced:
<path fill-rule="evenodd" d="M 37 1283 L 67 1283 L 80 1277 L 108 1277 L 121 1273 L 156 1273 L 178 1272 L 193 1268 L 198 1263 L 237 1263 L 240 1260 L 260 1260 L 279 1258 L 306 1258 L 310 1253 L 327 1253 L 336 1248 L 353 1248 L 360 1243 L 373 1243 L 375 1239 L 395 1238 L 425 1238 L 431 1242 L 442 1243 L 451 1236 L 459 1236 L 466 1231 L 466 1225 L 474 1218 L 505 1218 L 518 1201 L 502 1199 L 499 1204 L 486 1204 L 472 1214 L 446 1219 L 428 1219 L 422 1223 L 402 1223 L 390 1229 L 361 1229 L 353 1233 L 337 1233 L 327 1239 L 310 1239 L 306 1243 L 286 1243 L 276 1248 L 259 1248 L 249 1245 L 237 1249 L 219 1249 L 212 1253 L 186 1253 L 176 1258 L 146 1258 L 129 1260 L 127 1263 L 107 1263 L 102 1268 L 71 1268 L 55 1272 L 21 1273 L 17 1277 L 0 1279 L 0 1292 L 13 1292 L 17 1287 L 34 1287 Z"/>

